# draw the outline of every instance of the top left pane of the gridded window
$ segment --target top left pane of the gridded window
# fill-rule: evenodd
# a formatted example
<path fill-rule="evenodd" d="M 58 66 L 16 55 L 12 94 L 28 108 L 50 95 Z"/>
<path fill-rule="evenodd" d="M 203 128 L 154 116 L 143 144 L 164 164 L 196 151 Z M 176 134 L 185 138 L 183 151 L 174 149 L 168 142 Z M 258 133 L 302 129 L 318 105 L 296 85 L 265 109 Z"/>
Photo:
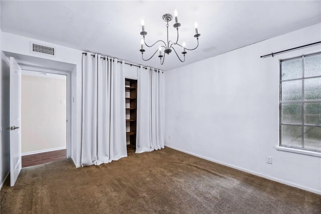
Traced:
<path fill-rule="evenodd" d="M 302 78 L 302 58 L 281 62 L 281 80 Z"/>

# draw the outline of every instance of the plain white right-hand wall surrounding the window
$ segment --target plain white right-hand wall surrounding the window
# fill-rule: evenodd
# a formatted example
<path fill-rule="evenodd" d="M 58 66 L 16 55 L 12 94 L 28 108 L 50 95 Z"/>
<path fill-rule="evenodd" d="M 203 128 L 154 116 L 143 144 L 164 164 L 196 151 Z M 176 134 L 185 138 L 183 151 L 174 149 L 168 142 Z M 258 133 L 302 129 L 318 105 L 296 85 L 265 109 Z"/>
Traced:
<path fill-rule="evenodd" d="M 320 157 L 275 149 L 279 60 L 320 45 L 260 58 L 320 40 L 317 24 L 165 72 L 166 145 L 321 194 Z"/>

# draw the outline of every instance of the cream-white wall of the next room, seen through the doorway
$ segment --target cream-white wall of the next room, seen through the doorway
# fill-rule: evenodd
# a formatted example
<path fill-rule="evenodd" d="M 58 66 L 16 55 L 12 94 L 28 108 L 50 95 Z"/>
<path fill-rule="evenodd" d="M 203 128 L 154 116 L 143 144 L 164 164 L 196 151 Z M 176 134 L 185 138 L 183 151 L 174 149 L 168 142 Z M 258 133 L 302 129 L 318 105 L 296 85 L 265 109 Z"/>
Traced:
<path fill-rule="evenodd" d="M 66 101 L 65 75 L 22 75 L 23 154 L 66 148 Z"/>

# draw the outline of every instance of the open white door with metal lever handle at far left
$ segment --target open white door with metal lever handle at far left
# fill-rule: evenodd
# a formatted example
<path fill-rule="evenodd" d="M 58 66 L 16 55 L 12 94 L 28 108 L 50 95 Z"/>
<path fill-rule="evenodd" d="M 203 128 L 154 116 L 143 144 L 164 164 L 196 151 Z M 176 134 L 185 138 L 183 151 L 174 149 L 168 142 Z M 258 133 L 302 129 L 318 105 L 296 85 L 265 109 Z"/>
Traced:
<path fill-rule="evenodd" d="M 10 185 L 21 170 L 21 68 L 10 57 Z"/>

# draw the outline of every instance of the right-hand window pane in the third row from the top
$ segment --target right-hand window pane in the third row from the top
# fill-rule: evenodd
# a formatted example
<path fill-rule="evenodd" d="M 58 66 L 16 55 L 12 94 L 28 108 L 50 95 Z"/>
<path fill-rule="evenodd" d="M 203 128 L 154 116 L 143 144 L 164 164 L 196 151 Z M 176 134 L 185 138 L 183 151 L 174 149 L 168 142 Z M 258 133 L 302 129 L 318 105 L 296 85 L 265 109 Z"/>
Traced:
<path fill-rule="evenodd" d="M 321 103 L 304 103 L 304 124 L 321 125 Z"/>

